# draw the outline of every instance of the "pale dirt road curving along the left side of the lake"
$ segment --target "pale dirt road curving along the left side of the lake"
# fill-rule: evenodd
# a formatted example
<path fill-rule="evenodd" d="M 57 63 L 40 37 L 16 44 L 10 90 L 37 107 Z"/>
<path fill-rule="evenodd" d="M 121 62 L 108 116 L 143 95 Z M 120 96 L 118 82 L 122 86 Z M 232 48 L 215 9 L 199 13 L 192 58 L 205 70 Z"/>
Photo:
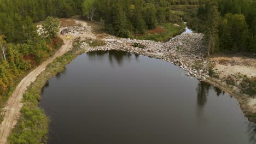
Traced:
<path fill-rule="evenodd" d="M 64 45 L 60 48 L 60 50 L 58 50 L 53 57 L 49 58 L 47 61 L 39 65 L 38 68 L 31 71 L 30 74 L 22 79 L 11 97 L 8 99 L 7 103 L 5 104 L 5 116 L 3 122 L 0 124 L 1 144 L 8 143 L 8 136 L 10 134 L 10 131 L 18 122 L 20 110 L 22 107 L 21 99 L 27 87 L 36 80 L 36 77 L 46 68 L 49 63 L 53 62 L 56 57 L 62 56 L 64 53 L 72 48 L 74 37 L 71 37 L 71 39 L 69 40 L 66 40 L 66 37 L 63 35 L 60 35 L 60 37 L 64 41 Z"/>

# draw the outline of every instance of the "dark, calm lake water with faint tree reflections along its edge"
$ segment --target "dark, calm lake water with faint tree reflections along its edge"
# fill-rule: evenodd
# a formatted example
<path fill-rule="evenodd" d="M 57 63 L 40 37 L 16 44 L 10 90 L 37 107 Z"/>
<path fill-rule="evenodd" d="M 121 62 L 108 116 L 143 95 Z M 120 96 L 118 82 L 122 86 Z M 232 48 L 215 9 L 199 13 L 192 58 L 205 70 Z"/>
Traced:
<path fill-rule="evenodd" d="M 160 59 L 89 52 L 45 85 L 48 143 L 254 143 L 235 98 Z"/>

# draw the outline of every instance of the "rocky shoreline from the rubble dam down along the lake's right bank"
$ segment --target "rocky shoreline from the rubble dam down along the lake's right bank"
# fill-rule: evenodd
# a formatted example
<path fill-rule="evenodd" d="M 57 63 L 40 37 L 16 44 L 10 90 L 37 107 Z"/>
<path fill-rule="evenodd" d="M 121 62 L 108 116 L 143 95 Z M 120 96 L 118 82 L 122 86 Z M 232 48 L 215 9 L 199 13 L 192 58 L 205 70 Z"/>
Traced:
<path fill-rule="evenodd" d="M 88 29 L 89 28 L 85 28 L 84 32 L 88 31 Z M 74 33 L 71 32 L 70 34 Z M 79 30 L 79 33 L 83 32 Z M 211 72 L 213 71 L 213 73 L 215 72 L 213 68 L 217 62 L 211 61 L 210 58 L 205 57 L 206 46 L 203 43 L 203 37 L 204 35 L 202 33 L 183 33 L 166 43 L 161 43 L 152 40 L 126 39 L 107 35 L 104 38 L 97 39 L 104 41 L 105 45 L 90 46 L 90 43 L 96 40 L 90 39 L 89 42 L 88 40 L 83 42 L 80 48 L 84 49 L 85 52 L 109 50 L 126 51 L 170 62 L 187 71 L 185 75 L 190 76 L 191 79 L 195 77 L 196 79 L 211 83 L 211 85 L 228 92 L 240 103 L 241 110 L 248 117 L 249 121 L 256 122 L 256 115 L 254 116 L 256 108 L 248 104 L 251 103 L 251 101 L 256 101 L 255 99 L 240 91 L 234 92 L 230 90 L 232 87 L 227 85 L 227 83 L 209 76 L 211 75 L 210 70 Z"/>

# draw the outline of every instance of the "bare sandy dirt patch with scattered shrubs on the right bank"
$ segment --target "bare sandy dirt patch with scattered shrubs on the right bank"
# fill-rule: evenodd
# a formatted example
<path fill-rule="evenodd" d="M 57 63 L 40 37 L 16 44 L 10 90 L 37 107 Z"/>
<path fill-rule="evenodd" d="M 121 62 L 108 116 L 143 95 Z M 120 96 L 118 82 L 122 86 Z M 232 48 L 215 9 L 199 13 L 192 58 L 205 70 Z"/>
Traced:
<path fill-rule="evenodd" d="M 208 82 L 213 82 L 215 86 L 219 85 L 225 92 L 236 97 L 248 119 L 256 122 L 256 94 L 253 89 L 253 80 L 256 79 L 256 57 L 237 54 L 214 56 L 210 59 L 216 62 L 213 69 L 219 77 L 212 77 Z"/>

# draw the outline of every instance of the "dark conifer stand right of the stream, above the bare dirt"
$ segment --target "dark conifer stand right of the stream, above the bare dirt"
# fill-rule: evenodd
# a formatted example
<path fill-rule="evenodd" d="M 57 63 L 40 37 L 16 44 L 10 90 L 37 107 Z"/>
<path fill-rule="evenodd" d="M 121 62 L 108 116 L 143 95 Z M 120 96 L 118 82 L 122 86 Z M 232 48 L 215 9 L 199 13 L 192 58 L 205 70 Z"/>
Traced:
<path fill-rule="evenodd" d="M 214 52 L 256 53 L 256 2 L 205 1 L 199 8 L 205 20 L 208 55 Z"/>

